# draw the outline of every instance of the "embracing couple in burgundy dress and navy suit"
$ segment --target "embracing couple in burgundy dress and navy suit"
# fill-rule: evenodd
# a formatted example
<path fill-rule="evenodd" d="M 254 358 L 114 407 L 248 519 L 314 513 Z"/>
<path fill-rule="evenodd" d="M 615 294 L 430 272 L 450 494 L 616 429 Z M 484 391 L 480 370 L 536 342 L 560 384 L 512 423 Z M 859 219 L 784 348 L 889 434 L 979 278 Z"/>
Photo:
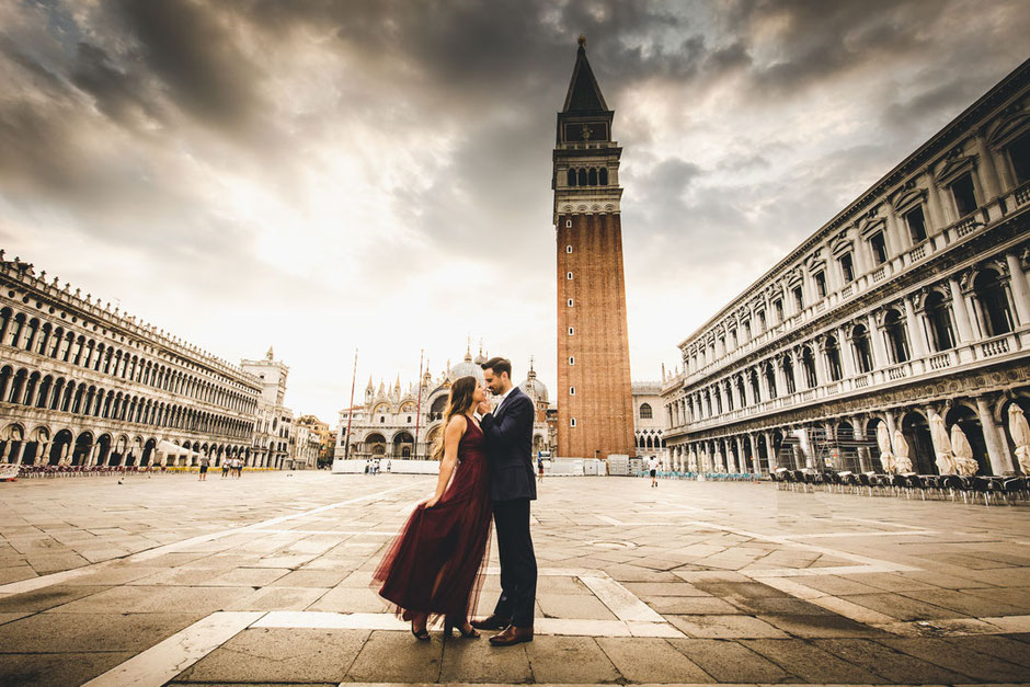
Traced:
<path fill-rule="evenodd" d="M 443 432 L 433 449 L 439 479 L 432 499 L 420 503 L 384 556 L 373 580 L 398 607 L 411 631 L 428 640 L 431 620 L 444 617 L 445 637 L 500 630 L 495 646 L 533 641 L 537 561 L 529 534 L 533 478 L 533 401 L 512 385 L 512 363 L 483 363 L 491 408 L 476 377 L 450 387 Z M 477 420 L 479 415 L 479 420 Z M 469 619 L 485 572 L 491 516 L 497 528 L 501 597 L 493 614 Z"/>

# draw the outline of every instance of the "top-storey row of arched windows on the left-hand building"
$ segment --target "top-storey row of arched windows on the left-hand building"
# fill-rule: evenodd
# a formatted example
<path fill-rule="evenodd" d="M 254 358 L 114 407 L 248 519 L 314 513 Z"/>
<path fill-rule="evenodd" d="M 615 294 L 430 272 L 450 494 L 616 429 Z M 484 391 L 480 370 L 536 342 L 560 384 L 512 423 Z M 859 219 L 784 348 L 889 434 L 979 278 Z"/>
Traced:
<path fill-rule="evenodd" d="M 98 343 L 62 325 L 14 313 L 11 308 L 0 310 L 0 343 L 228 410 L 253 412 L 258 407 L 256 399 L 151 363 L 129 351 Z"/>

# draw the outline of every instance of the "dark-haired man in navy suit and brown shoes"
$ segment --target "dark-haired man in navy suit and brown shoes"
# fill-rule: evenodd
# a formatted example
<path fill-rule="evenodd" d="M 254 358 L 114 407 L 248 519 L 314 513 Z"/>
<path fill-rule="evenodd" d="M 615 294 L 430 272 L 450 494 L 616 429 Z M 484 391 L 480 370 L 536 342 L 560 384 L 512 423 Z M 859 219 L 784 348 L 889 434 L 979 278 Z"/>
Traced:
<path fill-rule="evenodd" d="M 481 630 L 502 630 L 494 646 L 533 641 L 533 607 L 537 596 L 537 559 L 529 534 L 529 502 L 537 497 L 533 476 L 533 401 L 512 385 L 512 363 L 490 358 L 482 365 L 496 407 L 480 403 L 480 426 L 490 461 L 490 500 L 501 558 L 501 598 L 493 614 L 472 622 Z"/>

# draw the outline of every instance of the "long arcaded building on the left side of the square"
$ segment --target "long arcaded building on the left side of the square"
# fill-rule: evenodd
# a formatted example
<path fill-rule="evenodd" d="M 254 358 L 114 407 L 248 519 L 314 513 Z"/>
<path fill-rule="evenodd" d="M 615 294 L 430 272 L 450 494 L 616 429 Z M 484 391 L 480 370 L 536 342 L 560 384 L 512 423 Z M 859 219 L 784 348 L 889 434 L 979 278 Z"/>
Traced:
<path fill-rule="evenodd" d="M 249 460 L 260 393 L 241 368 L 0 251 L 0 461 Z"/>

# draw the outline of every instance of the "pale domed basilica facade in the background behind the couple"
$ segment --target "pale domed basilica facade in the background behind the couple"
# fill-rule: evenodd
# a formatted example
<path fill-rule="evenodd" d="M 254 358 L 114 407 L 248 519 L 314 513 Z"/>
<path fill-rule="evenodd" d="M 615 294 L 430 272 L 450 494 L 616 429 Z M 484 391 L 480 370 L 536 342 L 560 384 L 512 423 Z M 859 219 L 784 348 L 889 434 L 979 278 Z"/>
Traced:
<path fill-rule="evenodd" d="M 471 350 L 466 350 L 465 356 L 457 365 L 451 366 L 448 363 L 437 375 L 426 370 L 421 383 L 412 382 L 407 387 L 402 387 L 400 377 L 392 385 L 380 381 L 378 386 L 369 378 L 364 401 L 354 408 L 340 411 L 340 427 L 333 458 L 428 458 L 443 428 L 450 385 L 466 376 L 473 376 L 482 381 L 483 370 L 480 366 L 487 359 L 482 351 L 473 357 Z M 537 379 L 531 363 L 526 379 L 518 387 L 529 396 L 537 409 L 533 425 L 534 455 L 536 451 L 552 450 L 557 439 L 553 422 L 550 427 L 548 425 L 548 391 L 543 382 Z"/>

